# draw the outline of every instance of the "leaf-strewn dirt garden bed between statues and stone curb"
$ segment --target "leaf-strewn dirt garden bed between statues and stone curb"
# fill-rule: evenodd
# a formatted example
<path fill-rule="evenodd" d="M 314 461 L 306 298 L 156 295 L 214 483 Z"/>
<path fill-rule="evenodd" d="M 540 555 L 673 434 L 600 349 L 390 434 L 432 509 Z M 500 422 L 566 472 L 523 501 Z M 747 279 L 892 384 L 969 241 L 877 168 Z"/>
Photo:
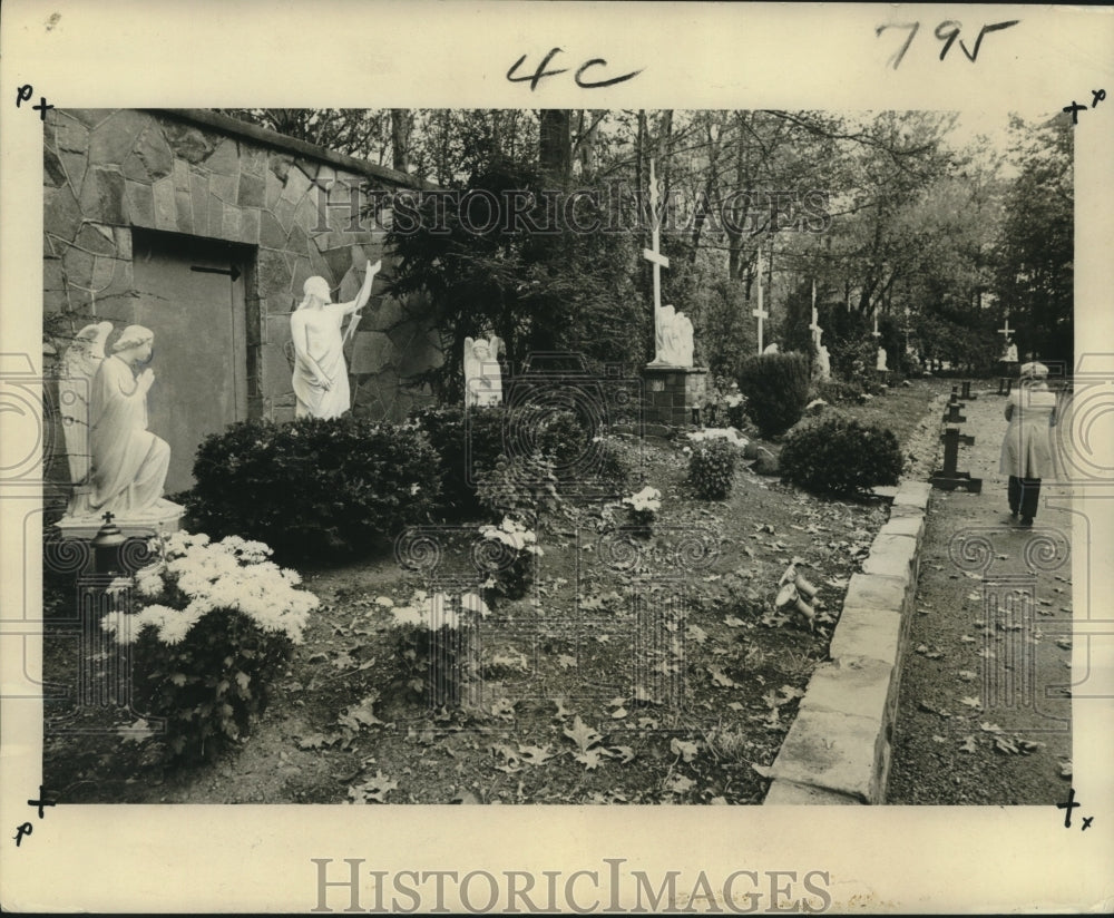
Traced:
<path fill-rule="evenodd" d="M 888 418 L 922 477 L 931 423 L 919 422 L 948 389 L 917 381 L 851 413 Z M 617 508 L 574 506 L 545 533 L 536 589 L 481 628 L 478 707 L 429 710 L 388 607 L 428 584 L 371 558 L 302 572 L 322 606 L 237 748 L 164 768 L 157 734 L 127 731 L 139 714 L 77 707 L 70 693 L 45 705 L 43 783 L 74 803 L 760 803 L 768 781 L 753 766 L 773 762 L 888 510 L 746 463 L 730 498 L 698 500 L 683 446 L 625 441 L 663 507 L 623 564 L 600 557 Z M 713 550 L 693 554 L 697 544 Z M 819 587 L 814 629 L 774 608 L 794 558 Z M 48 621 L 72 590 L 48 580 Z M 675 617 L 647 631 L 645 611 L 659 606 Z M 72 635 L 48 628 L 43 658 L 48 681 L 72 684 Z"/>

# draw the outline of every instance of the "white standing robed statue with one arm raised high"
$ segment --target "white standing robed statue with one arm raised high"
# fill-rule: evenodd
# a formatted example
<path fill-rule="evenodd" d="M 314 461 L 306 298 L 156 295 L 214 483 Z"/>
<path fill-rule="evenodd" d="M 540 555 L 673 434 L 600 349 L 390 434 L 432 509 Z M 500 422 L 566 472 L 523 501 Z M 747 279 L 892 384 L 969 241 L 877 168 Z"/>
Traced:
<path fill-rule="evenodd" d="M 351 407 L 348 364 L 341 332 L 344 316 L 351 315 L 349 333 L 355 328 L 358 313 L 371 299 L 371 284 L 381 263 L 369 264 L 363 286 L 355 300 L 334 303 L 329 282 L 310 277 L 302 287 L 305 294 L 290 316 L 290 333 L 294 343 L 294 395 L 297 418 L 339 418 Z"/>

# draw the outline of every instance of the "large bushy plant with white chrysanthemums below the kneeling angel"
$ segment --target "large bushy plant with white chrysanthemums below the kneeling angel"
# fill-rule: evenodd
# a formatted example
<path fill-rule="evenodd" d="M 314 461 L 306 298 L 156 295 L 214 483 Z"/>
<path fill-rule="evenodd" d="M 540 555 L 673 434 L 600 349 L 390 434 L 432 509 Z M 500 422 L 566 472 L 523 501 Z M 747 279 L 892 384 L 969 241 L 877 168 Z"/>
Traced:
<path fill-rule="evenodd" d="M 148 604 L 101 627 L 136 644 L 136 702 L 167 720 L 168 758 L 201 758 L 246 734 L 319 600 L 261 541 L 174 533 L 159 548 L 136 577 Z"/>

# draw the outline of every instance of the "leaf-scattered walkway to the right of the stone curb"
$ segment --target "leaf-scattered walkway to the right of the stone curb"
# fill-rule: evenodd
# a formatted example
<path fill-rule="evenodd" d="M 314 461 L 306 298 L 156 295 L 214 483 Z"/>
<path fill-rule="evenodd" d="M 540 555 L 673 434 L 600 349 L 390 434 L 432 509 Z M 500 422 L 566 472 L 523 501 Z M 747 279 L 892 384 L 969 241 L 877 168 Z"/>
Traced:
<path fill-rule="evenodd" d="M 1006 400 L 973 392 L 958 468 L 983 492 L 932 491 L 887 803 L 1043 804 L 1069 788 L 1072 518 L 1042 494 L 1033 529 L 1010 519 Z"/>

